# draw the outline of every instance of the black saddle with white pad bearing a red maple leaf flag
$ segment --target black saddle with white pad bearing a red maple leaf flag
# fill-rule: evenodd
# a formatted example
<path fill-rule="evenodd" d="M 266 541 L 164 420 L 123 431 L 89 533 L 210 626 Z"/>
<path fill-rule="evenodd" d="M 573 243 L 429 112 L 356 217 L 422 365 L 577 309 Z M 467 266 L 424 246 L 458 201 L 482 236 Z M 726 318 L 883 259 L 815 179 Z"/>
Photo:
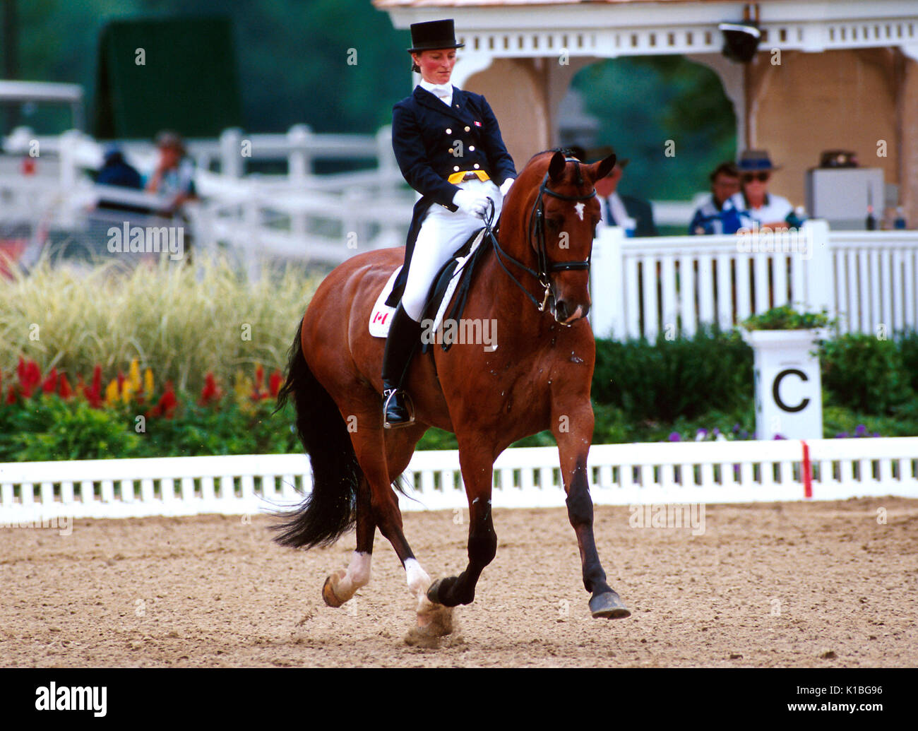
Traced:
<path fill-rule="evenodd" d="M 462 317 L 465 303 L 468 300 L 468 292 L 475 276 L 476 264 L 480 261 L 482 253 L 487 251 L 487 244 L 483 245 L 485 231 L 486 229 L 482 228 L 473 233 L 462 246 L 456 249 L 449 261 L 443 264 L 437 275 L 433 277 L 422 318 L 423 321 L 432 321 L 433 331 L 436 331 L 444 320 L 458 321 Z M 383 287 L 383 291 L 376 298 L 375 305 L 370 311 L 369 328 L 370 334 L 374 337 L 385 338 L 388 335 L 389 323 L 392 321 L 395 308 L 386 305 L 386 298 L 392 291 L 399 271 L 401 271 L 400 266 L 392 273 L 392 276 L 389 276 L 386 287 Z M 446 310 L 453 298 L 455 302 L 447 317 Z M 430 325 L 430 322 L 427 324 Z M 442 343 L 442 349 L 447 351 L 452 344 L 445 340 Z M 426 354 L 430 350 L 431 343 L 421 345 L 422 353 Z"/>

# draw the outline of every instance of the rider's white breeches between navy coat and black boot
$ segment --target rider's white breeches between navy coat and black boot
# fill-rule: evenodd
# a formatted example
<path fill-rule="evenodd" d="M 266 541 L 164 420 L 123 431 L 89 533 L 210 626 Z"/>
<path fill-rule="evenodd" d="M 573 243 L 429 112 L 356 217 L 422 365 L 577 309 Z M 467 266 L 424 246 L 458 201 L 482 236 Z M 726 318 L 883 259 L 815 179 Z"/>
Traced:
<path fill-rule="evenodd" d="M 481 181 L 474 178 L 460 183 L 459 187 L 493 200 L 493 225 L 497 225 L 503 203 L 498 186 L 491 180 Z M 468 216 L 461 210 L 452 212 L 437 203 L 427 209 L 427 215 L 418 231 L 418 241 L 415 242 L 414 251 L 411 253 L 408 280 L 401 299 L 402 307 L 411 320 L 420 322 L 433 277 L 440 271 L 440 267 L 449 261 L 455 250 L 462 246 L 469 236 L 484 225 L 482 219 Z"/>

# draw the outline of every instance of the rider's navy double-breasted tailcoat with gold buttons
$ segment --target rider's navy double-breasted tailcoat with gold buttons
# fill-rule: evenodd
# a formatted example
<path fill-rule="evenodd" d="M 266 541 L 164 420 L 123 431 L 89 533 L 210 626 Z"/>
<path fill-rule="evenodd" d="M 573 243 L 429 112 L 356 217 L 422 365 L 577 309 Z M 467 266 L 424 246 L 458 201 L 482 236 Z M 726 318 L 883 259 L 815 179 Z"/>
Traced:
<path fill-rule="evenodd" d="M 392 107 L 392 149 L 405 180 L 421 194 L 411 217 L 405 265 L 386 300 L 389 307 L 396 307 L 428 208 L 436 203 L 456 210 L 453 196 L 459 186 L 447 177 L 457 171 L 483 170 L 500 186 L 507 178 L 516 177 L 516 167 L 485 97 L 455 86 L 450 107 L 420 85 Z"/>

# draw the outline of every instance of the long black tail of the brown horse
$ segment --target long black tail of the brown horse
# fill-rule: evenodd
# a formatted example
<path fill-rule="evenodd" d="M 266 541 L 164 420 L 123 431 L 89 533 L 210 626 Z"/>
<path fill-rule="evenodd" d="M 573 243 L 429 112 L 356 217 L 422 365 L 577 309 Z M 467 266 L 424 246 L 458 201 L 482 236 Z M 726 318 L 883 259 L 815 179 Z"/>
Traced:
<path fill-rule="evenodd" d="M 341 411 L 309 370 L 300 344 L 302 327 L 300 321 L 274 413 L 293 396 L 297 433 L 312 464 L 312 492 L 295 511 L 281 513 L 285 520 L 272 527 L 279 532 L 274 541 L 280 545 L 312 548 L 334 543 L 353 525 L 357 486 L 363 471 Z"/>

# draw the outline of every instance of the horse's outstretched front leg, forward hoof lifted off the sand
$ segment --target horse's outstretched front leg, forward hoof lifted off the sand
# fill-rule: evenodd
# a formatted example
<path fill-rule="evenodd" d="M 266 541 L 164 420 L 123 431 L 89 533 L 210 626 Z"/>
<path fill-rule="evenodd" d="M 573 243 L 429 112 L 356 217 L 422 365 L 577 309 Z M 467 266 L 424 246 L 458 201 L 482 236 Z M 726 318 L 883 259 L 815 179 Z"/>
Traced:
<path fill-rule="evenodd" d="M 594 617 L 617 619 L 631 614 L 619 595 L 606 583 L 593 535 L 593 500 L 589 497 L 587 455 L 593 438 L 593 408 L 587 399 L 576 408 L 554 405 L 552 431 L 561 455 L 561 478 L 567 493 L 567 518 L 577 534 L 583 585 L 590 592 L 589 610 Z"/>

